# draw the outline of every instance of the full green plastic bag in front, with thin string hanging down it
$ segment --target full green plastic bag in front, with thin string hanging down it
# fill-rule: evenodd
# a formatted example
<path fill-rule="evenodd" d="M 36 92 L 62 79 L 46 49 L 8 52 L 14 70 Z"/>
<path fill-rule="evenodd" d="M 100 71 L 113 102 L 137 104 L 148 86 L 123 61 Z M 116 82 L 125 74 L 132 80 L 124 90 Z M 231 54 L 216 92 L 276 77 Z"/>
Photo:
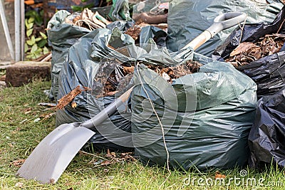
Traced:
<path fill-rule="evenodd" d="M 133 144 L 142 163 L 165 166 L 166 144 L 172 168 L 230 169 L 247 164 L 247 139 L 257 105 L 257 85 L 249 77 L 214 61 L 171 85 L 142 64 L 134 80 L 138 85 L 131 97 Z"/>

